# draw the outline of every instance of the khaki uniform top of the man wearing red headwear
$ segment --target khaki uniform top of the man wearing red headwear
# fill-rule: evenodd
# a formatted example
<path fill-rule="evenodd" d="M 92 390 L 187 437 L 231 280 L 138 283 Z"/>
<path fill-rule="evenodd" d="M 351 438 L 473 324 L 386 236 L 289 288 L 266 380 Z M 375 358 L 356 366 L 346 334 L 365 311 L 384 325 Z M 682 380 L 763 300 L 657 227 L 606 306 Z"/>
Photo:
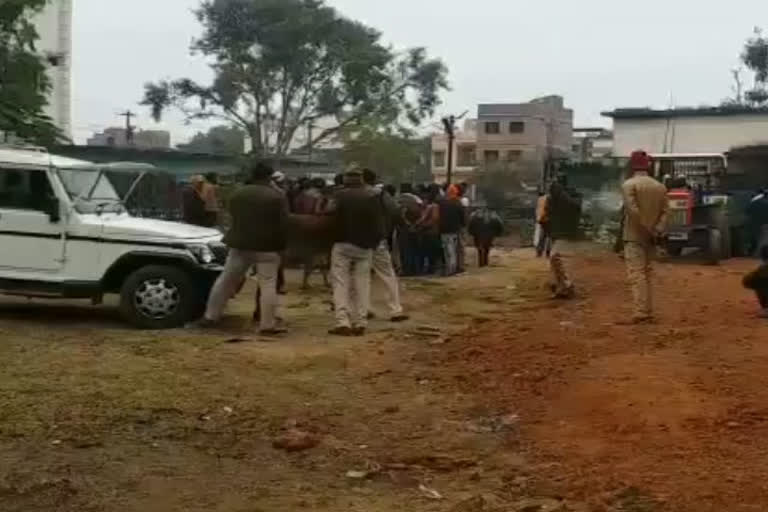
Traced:
<path fill-rule="evenodd" d="M 624 195 L 625 242 L 651 244 L 664 231 L 669 209 L 667 187 L 647 174 L 629 178 L 622 186 Z"/>

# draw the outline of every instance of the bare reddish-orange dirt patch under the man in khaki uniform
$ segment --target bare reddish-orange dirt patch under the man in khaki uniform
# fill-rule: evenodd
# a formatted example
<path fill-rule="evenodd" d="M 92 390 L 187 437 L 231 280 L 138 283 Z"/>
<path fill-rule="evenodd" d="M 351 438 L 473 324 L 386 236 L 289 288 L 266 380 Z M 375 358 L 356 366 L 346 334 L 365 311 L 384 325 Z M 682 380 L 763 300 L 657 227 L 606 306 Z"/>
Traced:
<path fill-rule="evenodd" d="M 579 300 L 510 311 L 452 345 L 454 364 L 518 411 L 524 453 L 563 495 L 597 510 L 766 510 L 768 323 L 740 284 L 752 266 L 661 265 L 660 321 L 629 327 L 616 325 L 621 265 L 583 257 Z"/>

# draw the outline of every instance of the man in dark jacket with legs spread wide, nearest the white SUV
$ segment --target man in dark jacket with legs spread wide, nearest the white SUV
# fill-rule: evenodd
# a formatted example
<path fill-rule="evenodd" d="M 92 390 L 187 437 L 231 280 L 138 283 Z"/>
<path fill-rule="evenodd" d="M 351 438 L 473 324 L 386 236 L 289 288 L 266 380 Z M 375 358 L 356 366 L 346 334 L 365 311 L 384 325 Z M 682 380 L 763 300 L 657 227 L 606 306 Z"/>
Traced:
<path fill-rule="evenodd" d="M 239 188 L 229 199 L 232 226 L 224 237 L 229 256 L 216 283 L 200 327 L 215 325 L 231 297 L 242 284 L 248 270 L 256 269 L 259 278 L 260 333 L 285 332 L 276 325 L 277 272 L 280 252 L 285 250 L 288 201 L 270 184 L 273 170 L 256 163 L 250 169 L 251 184 Z"/>

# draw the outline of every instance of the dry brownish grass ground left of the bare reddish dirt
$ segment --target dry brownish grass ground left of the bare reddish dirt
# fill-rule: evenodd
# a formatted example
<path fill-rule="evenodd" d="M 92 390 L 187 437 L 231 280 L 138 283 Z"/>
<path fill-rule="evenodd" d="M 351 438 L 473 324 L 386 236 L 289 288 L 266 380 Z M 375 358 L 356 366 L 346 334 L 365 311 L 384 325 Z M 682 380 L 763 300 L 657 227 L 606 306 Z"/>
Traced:
<path fill-rule="evenodd" d="M 467 428 L 462 376 L 441 372 L 432 354 L 451 332 L 519 302 L 516 273 L 408 281 L 413 320 L 375 322 L 364 340 L 324 334 L 320 290 L 285 299 L 292 334 L 271 343 L 225 342 L 253 336 L 245 293 L 226 331 L 207 334 L 128 330 L 106 307 L 2 302 L 0 510 L 444 510 L 495 489 L 518 455 L 499 449 L 504 436 Z M 286 422 L 320 445 L 274 449 Z M 386 463 L 402 466 L 345 477 Z M 446 500 L 425 498 L 420 483 Z"/>

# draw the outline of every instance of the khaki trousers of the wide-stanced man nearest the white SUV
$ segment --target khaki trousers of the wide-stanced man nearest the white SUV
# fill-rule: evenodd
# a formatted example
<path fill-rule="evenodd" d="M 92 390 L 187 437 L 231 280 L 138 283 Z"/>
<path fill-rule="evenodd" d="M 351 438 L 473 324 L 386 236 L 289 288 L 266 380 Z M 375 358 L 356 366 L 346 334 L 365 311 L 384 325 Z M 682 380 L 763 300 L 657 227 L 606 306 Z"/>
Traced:
<path fill-rule="evenodd" d="M 235 296 L 253 267 L 259 278 L 259 306 L 261 320 L 259 327 L 264 329 L 275 328 L 277 317 L 277 274 L 280 267 L 280 254 L 276 252 L 243 251 L 230 249 L 224 270 L 216 279 L 208 305 L 205 310 L 205 318 L 218 321 L 224 313 L 229 299 Z"/>

